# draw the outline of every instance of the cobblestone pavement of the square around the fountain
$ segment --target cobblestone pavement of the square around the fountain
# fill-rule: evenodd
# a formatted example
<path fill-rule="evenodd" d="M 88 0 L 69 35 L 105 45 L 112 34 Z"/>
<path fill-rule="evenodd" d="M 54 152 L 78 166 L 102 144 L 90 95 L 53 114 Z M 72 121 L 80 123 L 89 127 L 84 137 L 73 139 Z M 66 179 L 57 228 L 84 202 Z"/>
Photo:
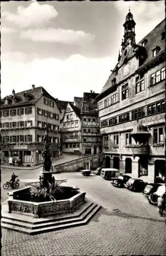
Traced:
<path fill-rule="evenodd" d="M 100 176 L 57 174 L 103 208 L 85 226 L 29 236 L 2 229 L 2 255 L 165 255 L 165 215 L 140 193 Z"/>

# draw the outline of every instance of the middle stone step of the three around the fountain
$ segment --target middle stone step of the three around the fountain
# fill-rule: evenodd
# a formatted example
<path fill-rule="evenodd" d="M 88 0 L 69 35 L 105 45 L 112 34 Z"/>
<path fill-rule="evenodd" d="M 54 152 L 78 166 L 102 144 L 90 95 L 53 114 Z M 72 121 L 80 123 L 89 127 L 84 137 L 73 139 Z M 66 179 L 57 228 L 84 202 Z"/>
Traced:
<path fill-rule="evenodd" d="M 86 208 L 86 210 L 84 210 L 82 212 L 82 214 L 80 215 L 80 217 L 77 218 L 71 218 L 70 219 L 60 219 L 60 220 L 52 220 L 50 219 L 49 222 L 42 222 L 42 223 L 27 223 L 27 222 L 23 222 L 23 220 L 21 221 L 17 221 L 17 220 L 12 220 L 12 226 L 18 226 L 18 227 L 25 227 L 25 228 L 31 228 L 31 229 L 36 229 L 36 228 L 41 228 L 41 227 L 49 227 L 49 226 L 56 226 L 59 224 L 67 224 L 67 223 L 72 223 L 72 222 L 76 222 L 76 221 L 82 221 L 84 218 L 86 218 L 86 216 L 93 210 L 93 208 L 95 208 L 97 206 L 97 204 L 92 203 L 88 208 Z M 6 223 L 6 224 L 10 224 L 11 220 L 9 219 L 5 219 L 2 218 L 1 219 L 1 223 Z"/>

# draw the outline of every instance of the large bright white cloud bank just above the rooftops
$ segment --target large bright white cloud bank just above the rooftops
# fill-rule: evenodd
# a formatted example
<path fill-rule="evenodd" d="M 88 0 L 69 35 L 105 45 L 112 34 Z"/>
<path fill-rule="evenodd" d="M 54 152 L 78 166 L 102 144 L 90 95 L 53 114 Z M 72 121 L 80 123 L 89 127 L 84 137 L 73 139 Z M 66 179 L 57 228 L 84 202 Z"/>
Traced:
<path fill-rule="evenodd" d="M 32 62 L 2 61 L 2 97 L 31 88 L 44 87 L 51 95 L 62 100 L 73 100 L 83 92 L 101 92 L 115 59 L 86 58 L 79 54 L 66 60 L 56 58 L 34 59 Z M 10 74 L 10 76 L 9 76 Z"/>

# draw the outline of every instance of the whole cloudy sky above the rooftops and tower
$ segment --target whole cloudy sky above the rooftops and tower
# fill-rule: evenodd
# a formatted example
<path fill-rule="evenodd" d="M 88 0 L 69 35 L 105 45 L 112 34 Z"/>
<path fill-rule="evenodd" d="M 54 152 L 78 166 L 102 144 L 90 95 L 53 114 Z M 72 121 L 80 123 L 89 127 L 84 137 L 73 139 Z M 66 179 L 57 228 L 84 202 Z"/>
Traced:
<path fill-rule="evenodd" d="M 117 63 L 129 6 L 136 43 L 165 18 L 163 0 L 1 2 L 1 98 L 32 84 L 66 101 L 100 93 Z"/>

